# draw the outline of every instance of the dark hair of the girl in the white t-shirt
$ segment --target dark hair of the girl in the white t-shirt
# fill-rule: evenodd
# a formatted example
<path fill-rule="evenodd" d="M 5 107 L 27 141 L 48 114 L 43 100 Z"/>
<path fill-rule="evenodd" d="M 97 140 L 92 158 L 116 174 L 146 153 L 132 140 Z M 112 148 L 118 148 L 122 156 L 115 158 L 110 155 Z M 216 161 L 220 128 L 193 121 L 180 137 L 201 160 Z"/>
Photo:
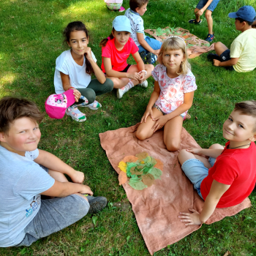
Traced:
<path fill-rule="evenodd" d="M 88 30 L 86 29 L 86 25 L 81 21 L 73 21 L 67 25 L 67 28 L 64 29 L 64 42 L 69 42 L 70 33 L 72 31 L 84 31 L 86 33 L 86 37 L 88 38 Z M 86 59 L 86 73 L 91 75 L 94 73 L 94 69 L 91 67 L 91 63 L 88 59 Z"/>

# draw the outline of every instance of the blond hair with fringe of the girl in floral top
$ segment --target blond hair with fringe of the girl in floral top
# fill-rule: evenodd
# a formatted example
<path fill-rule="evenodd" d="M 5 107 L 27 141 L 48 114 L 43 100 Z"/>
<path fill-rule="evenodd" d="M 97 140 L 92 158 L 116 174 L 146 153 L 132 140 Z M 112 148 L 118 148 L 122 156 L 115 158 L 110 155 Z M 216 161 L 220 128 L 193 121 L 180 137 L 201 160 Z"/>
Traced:
<path fill-rule="evenodd" d="M 179 50 L 181 49 L 184 54 L 184 61 L 181 62 L 181 72 L 177 72 L 178 75 L 187 75 L 189 72 L 189 69 L 191 70 L 191 66 L 189 64 L 189 61 L 187 61 L 187 50 L 186 50 L 186 43 L 184 42 L 184 39 L 181 37 L 169 37 L 165 39 L 165 42 L 163 42 L 160 53 L 158 56 L 157 61 L 163 65 L 162 63 L 162 54 L 166 52 L 167 50 Z"/>

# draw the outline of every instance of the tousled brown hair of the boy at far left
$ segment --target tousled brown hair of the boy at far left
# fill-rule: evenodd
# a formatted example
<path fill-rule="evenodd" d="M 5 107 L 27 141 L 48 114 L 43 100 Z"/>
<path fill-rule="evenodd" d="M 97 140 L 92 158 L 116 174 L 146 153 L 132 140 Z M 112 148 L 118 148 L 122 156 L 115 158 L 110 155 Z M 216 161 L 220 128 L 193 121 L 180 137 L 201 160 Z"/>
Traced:
<path fill-rule="evenodd" d="M 4 97 L 0 100 L 0 132 L 7 133 L 10 129 L 10 123 L 24 116 L 38 123 L 43 118 L 37 105 L 28 99 Z"/>

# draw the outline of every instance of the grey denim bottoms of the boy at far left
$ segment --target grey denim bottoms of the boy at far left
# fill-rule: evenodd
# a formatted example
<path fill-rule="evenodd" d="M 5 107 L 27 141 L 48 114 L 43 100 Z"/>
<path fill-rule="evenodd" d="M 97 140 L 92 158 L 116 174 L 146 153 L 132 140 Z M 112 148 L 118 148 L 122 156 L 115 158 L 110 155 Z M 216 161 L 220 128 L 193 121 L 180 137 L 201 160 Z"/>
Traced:
<path fill-rule="evenodd" d="M 48 172 L 48 168 L 41 166 Z M 41 207 L 25 228 L 25 237 L 16 246 L 30 246 L 39 238 L 72 225 L 88 213 L 90 205 L 79 195 L 41 200 Z"/>

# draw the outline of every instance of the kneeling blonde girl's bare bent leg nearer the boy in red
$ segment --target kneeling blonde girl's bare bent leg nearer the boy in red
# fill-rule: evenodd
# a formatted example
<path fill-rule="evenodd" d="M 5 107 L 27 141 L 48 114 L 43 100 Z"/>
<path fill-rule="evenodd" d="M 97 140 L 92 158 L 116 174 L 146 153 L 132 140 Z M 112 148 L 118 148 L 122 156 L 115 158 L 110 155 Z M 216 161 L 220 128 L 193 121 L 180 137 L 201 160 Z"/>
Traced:
<path fill-rule="evenodd" d="M 177 151 L 181 145 L 183 118 L 176 116 L 165 124 L 164 143 L 168 151 Z"/>

